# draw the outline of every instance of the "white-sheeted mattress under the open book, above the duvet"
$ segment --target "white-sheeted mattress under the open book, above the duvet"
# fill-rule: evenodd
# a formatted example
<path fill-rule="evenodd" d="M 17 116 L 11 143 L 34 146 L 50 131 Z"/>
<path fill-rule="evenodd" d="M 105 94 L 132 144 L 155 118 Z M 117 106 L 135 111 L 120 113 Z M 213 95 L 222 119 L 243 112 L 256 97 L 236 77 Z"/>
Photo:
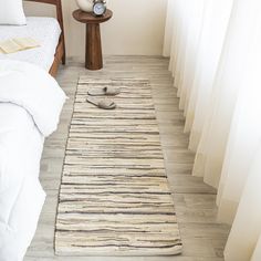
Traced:
<path fill-rule="evenodd" d="M 27 25 L 0 25 L 0 41 L 11 38 L 32 38 L 41 46 L 11 54 L 0 53 L 0 59 L 33 63 L 49 71 L 52 66 L 61 29 L 54 18 L 27 18 Z"/>

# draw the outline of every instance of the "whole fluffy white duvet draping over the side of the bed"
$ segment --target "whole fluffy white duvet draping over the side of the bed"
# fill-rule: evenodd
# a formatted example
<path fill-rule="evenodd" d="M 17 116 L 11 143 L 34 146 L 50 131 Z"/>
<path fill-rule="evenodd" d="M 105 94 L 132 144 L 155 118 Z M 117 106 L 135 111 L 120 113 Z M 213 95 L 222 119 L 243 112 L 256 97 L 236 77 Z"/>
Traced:
<path fill-rule="evenodd" d="M 45 198 L 43 142 L 65 98 L 45 71 L 0 60 L 0 261 L 21 261 L 33 238 Z"/>

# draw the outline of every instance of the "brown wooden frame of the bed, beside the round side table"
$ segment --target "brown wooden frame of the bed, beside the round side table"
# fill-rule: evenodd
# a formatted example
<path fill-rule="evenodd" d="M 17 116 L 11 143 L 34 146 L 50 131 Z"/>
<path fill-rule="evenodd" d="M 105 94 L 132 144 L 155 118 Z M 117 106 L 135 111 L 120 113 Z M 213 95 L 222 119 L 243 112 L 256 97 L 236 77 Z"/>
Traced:
<path fill-rule="evenodd" d="M 49 3 L 53 4 L 56 8 L 56 19 L 59 21 L 59 24 L 61 27 L 62 33 L 60 35 L 59 44 L 56 46 L 56 52 L 54 55 L 53 64 L 49 71 L 49 73 L 52 76 L 56 75 L 59 64 L 62 62 L 62 64 L 65 64 L 65 41 L 64 41 L 64 27 L 63 27 L 63 11 L 62 11 L 62 2 L 61 0 L 27 0 L 31 2 L 41 2 L 41 3 Z"/>

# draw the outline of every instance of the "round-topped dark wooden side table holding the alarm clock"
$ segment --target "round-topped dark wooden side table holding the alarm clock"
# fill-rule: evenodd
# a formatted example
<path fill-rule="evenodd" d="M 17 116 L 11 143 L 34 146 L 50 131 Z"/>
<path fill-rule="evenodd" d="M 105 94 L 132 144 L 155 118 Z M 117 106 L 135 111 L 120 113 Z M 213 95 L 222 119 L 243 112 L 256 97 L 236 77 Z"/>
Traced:
<path fill-rule="evenodd" d="M 93 13 L 84 12 L 80 9 L 73 12 L 75 20 L 86 23 L 85 67 L 88 70 L 100 70 L 103 67 L 100 23 L 106 22 L 112 17 L 113 12 L 108 9 L 101 17 L 95 17 Z"/>

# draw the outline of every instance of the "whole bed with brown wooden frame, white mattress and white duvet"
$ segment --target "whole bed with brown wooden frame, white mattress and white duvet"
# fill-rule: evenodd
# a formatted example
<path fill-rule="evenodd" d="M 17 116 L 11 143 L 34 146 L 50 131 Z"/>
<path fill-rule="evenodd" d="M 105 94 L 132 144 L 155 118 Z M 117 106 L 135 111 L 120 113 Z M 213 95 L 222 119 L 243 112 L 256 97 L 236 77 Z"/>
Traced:
<path fill-rule="evenodd" d="M 0 261 L 21 261 L 34 236 L 45 200 L 39 181 L 43 144 L 66 100 L 53 77 L 65 63 L 61 0 L 38 2 L 55 4 L 59 22 L 28 18 L 23 27 L 0 25 L 0 39 L 41 41 L 40 49 L 0 54 Z"/>

